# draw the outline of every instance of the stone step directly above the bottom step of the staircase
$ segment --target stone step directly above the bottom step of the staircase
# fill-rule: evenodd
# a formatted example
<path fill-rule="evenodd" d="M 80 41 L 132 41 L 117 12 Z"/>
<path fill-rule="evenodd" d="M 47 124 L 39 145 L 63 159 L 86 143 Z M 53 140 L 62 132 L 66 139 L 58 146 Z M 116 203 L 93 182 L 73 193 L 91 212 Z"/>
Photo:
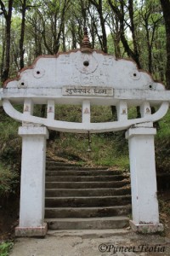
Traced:
<path fill-rule="evenodd" d="M 127 216 L 131 206 L 119 207 L 59 207 L 46 208 L 45 218 L 97 218 L 111 216 Z"/>

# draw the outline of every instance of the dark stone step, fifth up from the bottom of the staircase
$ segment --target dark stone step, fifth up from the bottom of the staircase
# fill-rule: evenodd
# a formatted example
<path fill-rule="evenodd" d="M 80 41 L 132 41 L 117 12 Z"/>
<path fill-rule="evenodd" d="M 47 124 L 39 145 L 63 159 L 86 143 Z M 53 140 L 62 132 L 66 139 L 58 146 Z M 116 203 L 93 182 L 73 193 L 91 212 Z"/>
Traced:
<path fill-rule="evenodd" d="M 121 188 L 129 184 L 129 180 L 111 182 L 46 182 L 46 189 L 94 189 Z"/>

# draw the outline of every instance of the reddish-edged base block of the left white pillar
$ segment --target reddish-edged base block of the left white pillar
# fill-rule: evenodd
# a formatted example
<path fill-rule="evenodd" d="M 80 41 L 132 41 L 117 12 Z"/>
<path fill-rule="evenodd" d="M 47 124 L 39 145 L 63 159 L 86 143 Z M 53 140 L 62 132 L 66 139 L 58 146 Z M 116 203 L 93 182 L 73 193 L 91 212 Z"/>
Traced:
<path fill-rule="evenodd" d="M 46 236 L 48 231 L 48 224 L 44 223 L 40 227 L 16 227 L 15 236 Z"/>

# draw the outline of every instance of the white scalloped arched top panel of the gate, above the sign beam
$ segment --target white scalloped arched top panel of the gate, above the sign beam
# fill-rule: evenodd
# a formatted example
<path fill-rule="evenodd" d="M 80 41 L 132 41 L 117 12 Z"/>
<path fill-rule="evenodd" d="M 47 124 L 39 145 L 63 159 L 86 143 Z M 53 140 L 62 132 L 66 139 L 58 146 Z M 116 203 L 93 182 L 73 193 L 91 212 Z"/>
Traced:
<path fill-rule="evenodd" d="M 89 65 L 85 67 L 84 61 Z M 116 60 L 112 55 L 92 54 L 80 50 L 58 56 L 42 56 L 34 66 L 20 73 L 20 79 L 8 82 L 18 88 L 62 88 L 71 86 L 104 86 L 114 89 L 164 90 L 148 73 L 137 69 L 129 60 Z"/>

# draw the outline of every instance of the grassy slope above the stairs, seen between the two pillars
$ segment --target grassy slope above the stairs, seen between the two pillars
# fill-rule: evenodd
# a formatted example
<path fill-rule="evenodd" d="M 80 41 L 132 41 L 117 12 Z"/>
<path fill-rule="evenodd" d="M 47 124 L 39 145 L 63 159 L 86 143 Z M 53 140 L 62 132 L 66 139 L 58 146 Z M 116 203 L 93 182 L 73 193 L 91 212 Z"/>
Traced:
<path fill-rule="evenodd" d="M 93 166 L 117 166 L 129 170 L 127 141 L 123 132 L 90 135 L 91 152 L 88 152 L 88 135 L 62 133 L 50 143 L 49 149 L 59 157 Z"/>

